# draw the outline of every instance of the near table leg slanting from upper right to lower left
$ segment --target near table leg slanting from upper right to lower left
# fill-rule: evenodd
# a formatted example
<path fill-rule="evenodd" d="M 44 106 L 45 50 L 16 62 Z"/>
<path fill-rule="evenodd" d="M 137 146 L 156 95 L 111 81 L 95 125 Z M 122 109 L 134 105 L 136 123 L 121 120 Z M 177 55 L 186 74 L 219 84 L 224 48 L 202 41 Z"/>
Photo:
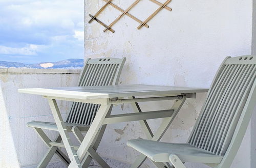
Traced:
<path fill-rule="evenodd" d="M 84 155 L 86 155 L 89 147 L 92 145 L 92 143 L 94 142 L 94 139 L 97 137 L 97 133 L 101 128 L 103 120 L 106 114 L 108 114 L 110 107 L 111 105 L 100 105 L 100 108 L 97 111 L 96 116 L 89 130 L 86 133 L 86 136 L 84 136 L 83 141 L 76 152 L 80 160 L 84 157 Z M 71 163 L 72 162 L 74 162 L 74 160 L 71 161 Z M 69 167 L 72 167 L 72 166 L 69 166 Z"/>

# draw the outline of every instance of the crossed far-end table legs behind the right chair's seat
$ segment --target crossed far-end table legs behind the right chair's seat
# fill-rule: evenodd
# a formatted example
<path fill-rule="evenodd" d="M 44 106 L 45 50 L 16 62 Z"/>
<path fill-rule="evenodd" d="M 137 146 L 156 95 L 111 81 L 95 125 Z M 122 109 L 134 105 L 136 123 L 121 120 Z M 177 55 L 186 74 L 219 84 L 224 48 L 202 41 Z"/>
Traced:
<path fill-rule="evenodd" d="M 149 135 L 151 134 L 150 132 L 152 132 L 150 129 L 148 129 L 145 124 L 143 124 L 142 122 L 142 128 L 144 129 L 147 137 L 150 137 L 148 139 L 151 139 L 153 141 L 160 141 L 160 139 L 162 138 L 162 136 L 164 135 L 164 133 L 166 132 L 166 130 L 168 129 L 169 125 L 173 122 L 173 120 L 175 119 L 176 115 L 178 114 L 180 108 L 182 107 L 182 105 L 184 104 L 186 100 L 186 96 L 183 96 L 182 99 L 180 100 L 177 100 L 171 109 L 174 110 L 174 114 L 172 117 L 168 117 L 168 118 L 164 118 L 161 125 L 159 126 L 158 130 L 156 131 L 155 135 L 153 135 L 153 137 L 150 137 Z M 136 104 L 135 103 L 132 103 L 132 106 L 134 108 L 135 111 L 139 111 L 139 109 L 137 108 Z M 136 107 L 136 108 L 135 108 Z M 140 167 L 141 164 L 145 161 L 146 159 L 146 156 L 141 154 L 138 156 L 138 158 L 136 159 L 136 161 L 132 164 L 131 167 Z M 154 164 L 156 162 L 153 162 Z M 159 166 L 159 164 L 157 165 Z M 166 165 L 161 165 L 161 167 L 167 167 Z"/>

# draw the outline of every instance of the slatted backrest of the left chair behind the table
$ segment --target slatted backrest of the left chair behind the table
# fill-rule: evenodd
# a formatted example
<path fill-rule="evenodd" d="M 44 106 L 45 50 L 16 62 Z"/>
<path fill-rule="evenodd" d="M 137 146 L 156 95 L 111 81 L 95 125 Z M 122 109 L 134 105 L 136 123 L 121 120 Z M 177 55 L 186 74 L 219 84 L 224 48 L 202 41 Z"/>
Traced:
<path fill-rule="evenodd" d="M 123 59 L 88 59 L 79 77 L 78 86 L 117 85 L 125 62 Z M 66 122 L 90 125 L 99 109 L 98 104 L 74 102 Z"/>

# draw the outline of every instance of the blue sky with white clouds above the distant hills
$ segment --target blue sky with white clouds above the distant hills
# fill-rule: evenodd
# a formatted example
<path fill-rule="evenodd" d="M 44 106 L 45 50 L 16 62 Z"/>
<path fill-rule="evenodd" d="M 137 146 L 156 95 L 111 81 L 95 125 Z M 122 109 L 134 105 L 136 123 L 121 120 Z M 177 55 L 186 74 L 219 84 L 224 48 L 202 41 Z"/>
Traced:
<path fill-rule="evenodd" d="M 0 61 L 83 59 L 82 0 L 0 0 Z"/>

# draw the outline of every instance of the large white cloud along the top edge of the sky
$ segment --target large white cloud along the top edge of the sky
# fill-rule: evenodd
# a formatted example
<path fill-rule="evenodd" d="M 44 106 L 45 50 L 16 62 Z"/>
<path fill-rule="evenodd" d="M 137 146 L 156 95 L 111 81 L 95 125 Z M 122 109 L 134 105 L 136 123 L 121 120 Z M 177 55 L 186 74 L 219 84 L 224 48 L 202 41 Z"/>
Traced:
<path fill-rule="evenodd" d="M 60 25 L 73 29 L 74 25 L 83 20 L 83 10 L 77 10 L 83 1 L 26 1 L 26 3 L 10 3 L 5 6 L 12 15 L 19 17 L 20 25 Z M 9 14 L 10 14 L 9 13 Z"/>

